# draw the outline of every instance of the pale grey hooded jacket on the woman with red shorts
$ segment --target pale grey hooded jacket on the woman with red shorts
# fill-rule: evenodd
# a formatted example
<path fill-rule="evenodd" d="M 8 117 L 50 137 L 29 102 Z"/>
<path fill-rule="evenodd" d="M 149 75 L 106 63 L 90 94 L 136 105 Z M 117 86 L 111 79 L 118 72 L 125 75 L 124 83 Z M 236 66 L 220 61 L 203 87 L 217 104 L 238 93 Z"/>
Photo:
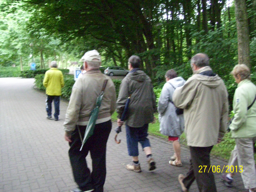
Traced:
<path fill-rule="evenodd" d="M 183 114 L 177 116 L 176 107 L 172 103 L 172 94 L 177 87 L 184 85 L 182 77 L 170 79 L 163 86 L 158 102 L 158 119 L 160 121 L 160 133 L 165 136 L 179 137 L 184 130 Z"/>

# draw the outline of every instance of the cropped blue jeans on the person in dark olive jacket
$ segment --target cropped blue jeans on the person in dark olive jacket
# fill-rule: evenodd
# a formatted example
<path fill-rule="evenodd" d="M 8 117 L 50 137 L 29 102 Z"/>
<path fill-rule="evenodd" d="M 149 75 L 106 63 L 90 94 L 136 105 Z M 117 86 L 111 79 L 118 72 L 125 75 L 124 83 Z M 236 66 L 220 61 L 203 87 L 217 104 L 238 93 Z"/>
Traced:
<path fill-rule="evenodd" d="M 150 147 L 148 136 L 148 124 L 143 125 L 143 127 L 129 127 L 126 128 L 126 141 L 128 154 L 130 156 L 139 156 L 138 142 L 140 142 L 142 148 Z"/>

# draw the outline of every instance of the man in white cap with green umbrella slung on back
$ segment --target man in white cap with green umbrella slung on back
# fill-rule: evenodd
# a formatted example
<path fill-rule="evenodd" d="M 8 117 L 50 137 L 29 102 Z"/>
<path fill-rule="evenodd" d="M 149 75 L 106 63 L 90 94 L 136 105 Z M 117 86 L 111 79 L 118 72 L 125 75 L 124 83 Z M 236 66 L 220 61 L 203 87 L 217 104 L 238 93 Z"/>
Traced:
<path fill-rule="evenodd" d="M 99 70 L 101 56 L 98 51 L 88 51 L 81 59 L 86 73 L 73 85 L 64 122 L 64 137 L 70 144 L 70 163 L 79 186 L 70 192 L 103 192 L 106 178 L 106 145 L 112 128 L 111 115 L 116 107 L 116 90 L 110 77 Z M 102 92 L 105 79 L 108 79 L 108 82 L 93 136 L 88 138 L 80 151 L 81 137 L 84 136 L 90 113 L 95 107 L 96 98 Z M 92 172 L 88 169 L 85 159 L 89 151 L 93 164 Z"/>

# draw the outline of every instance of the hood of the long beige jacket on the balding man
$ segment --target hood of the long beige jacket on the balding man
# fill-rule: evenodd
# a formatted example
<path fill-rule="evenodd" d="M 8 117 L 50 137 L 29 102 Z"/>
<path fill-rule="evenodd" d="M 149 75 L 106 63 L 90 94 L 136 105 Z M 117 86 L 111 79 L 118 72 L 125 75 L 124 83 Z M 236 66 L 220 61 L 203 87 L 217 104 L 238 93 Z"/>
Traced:
<path fill-rule="evenodd" d="M 221 85 L 222 79 L 218 75 L 207 76 L 199 74 L 205 71 L 212 71 L 212 69 L 209 66 L 203 67 L 198 71 L 195 71 L 192 78 L 198 79 L 198 81 L 209 88 L 217 88 L 219 85 Z"/>

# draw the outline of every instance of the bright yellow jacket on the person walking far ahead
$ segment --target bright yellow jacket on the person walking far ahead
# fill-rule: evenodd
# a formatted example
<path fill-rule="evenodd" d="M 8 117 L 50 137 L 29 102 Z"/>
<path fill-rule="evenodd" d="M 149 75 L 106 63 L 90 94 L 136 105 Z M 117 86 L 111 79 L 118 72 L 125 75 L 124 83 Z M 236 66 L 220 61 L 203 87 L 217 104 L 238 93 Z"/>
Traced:
<path fill-rule="evenodd" d="M 50 68 L 44 76 L 43 85 L 46 94 L 50 96 L 61 96 L 61 88 L 64 87 L 63 74 L 57 68 Z"/>

